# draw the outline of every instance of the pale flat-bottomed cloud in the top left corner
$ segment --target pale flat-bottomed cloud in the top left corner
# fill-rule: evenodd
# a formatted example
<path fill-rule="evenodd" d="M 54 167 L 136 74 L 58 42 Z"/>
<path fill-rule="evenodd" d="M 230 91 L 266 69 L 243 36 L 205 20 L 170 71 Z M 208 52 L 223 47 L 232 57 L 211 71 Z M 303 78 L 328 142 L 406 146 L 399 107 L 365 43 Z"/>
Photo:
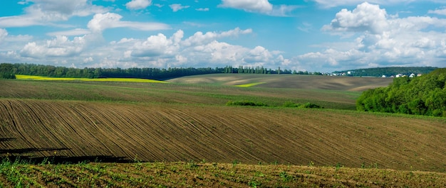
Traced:
<path fill-rule="evenodd" d="M 1 27 L 48 26 L 57 21 L 67 21 L 73 16 L 89 16 L 108 11 L 103 6 L 95 6 L 87 0 L 28 0 L 32 3 L 20 16 L 0 17 Z"/>

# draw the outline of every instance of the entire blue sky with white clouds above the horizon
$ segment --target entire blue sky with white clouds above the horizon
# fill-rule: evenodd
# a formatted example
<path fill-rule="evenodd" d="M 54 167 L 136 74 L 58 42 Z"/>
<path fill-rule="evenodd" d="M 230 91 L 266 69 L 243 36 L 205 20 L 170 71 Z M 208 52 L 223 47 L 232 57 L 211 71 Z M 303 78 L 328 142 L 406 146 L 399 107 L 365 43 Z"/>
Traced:
<path fill-rule="evenodd" d="M 0 6 L 0 62 L 446 67 L 446 1 L 8 0 Z"/>

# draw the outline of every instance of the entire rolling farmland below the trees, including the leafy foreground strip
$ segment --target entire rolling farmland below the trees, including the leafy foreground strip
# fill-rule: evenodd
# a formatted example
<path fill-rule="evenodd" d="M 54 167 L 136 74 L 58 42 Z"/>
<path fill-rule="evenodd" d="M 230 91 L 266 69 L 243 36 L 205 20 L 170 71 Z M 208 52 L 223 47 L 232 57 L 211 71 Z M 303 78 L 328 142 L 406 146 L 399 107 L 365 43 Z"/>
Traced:
<path fill-rule="evenodd" d="M 381 80 L 242 76 L 264 83 L 0 79 L 0 187 L 444 187 L 445 118 L 354 111 L 356 90 Z"/>

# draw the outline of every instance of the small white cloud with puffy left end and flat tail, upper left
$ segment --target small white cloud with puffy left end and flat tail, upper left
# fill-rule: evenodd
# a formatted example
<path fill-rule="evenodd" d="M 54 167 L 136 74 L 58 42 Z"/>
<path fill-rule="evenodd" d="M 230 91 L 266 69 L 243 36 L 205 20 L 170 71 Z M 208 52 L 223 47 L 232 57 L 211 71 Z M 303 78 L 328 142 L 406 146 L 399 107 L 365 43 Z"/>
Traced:
<path fill-rule="evenodd" d="M 107 28 L 132 28 L 140 31 L 156 31 L 168 29 L 165 23 L 144 23 L 120 21 L 123 16 L 118 13 L 97 13 L 88 22 L 88 28 L 93 32 L 102 32 Z"/>

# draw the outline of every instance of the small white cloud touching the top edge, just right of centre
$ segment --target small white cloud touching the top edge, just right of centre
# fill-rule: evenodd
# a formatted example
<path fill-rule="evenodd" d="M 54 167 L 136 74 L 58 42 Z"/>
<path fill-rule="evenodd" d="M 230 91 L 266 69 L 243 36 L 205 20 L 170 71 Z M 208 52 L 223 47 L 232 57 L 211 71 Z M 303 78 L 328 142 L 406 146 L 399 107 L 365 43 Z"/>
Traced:
<path fill-rule="evenodd" d="M 273 10 L 273 5 L 268 0 L 222 0 L 220 6 L 260 13 L 269 13 Z"/>

